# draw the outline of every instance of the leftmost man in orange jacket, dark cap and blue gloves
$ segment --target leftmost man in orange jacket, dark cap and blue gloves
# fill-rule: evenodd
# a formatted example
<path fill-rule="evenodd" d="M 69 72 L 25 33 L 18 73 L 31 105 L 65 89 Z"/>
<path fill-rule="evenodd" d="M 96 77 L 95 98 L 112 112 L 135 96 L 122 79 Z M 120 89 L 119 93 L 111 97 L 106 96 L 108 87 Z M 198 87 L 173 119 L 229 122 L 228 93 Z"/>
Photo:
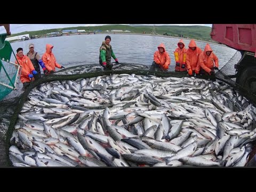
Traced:
<path fill-rule="evenodd" d="M 23 87 L 26 88 L 38 74 L 27 55 L 23 55 L 21 47 L 17 49 L 16 58 L 18 61 L 15 60 L 15 63 L 21 66 L 20 81 L 23 83 Z"/>

